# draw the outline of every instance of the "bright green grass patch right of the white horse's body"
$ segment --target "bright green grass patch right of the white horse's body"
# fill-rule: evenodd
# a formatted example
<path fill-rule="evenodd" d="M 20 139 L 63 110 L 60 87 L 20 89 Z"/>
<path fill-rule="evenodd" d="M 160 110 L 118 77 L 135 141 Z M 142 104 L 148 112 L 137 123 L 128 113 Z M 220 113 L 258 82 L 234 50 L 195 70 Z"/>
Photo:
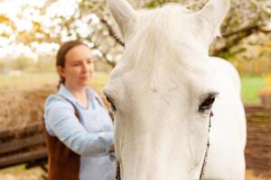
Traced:
<path fill-rule="evenodd" d="M 260 103 L 257 96 L 258 91 L 266 86 L 266 80 L 262 76 L 243 76 L 242 99 L 244 103 Z"/>

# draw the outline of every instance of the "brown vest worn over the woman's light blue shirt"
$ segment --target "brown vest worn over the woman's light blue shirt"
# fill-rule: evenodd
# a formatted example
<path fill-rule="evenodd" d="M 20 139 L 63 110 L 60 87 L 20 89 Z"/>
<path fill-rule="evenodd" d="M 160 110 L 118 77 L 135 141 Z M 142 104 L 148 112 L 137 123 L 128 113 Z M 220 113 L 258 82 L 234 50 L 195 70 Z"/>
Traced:
<path fill-rule="evenodd" d="M 59 96 L 71 103 L 70 100 L 64 96 Z M 76 117 L 79 119 L 78 110 L 73 103 L 71 104 L 74 107 Z M 43 129 L 48 150 L 48 180 L 79 180 L 80 156 L 66 147 L 57 137 L 52 137 L 47 130 L 45 130 L 44 121 Z"/>

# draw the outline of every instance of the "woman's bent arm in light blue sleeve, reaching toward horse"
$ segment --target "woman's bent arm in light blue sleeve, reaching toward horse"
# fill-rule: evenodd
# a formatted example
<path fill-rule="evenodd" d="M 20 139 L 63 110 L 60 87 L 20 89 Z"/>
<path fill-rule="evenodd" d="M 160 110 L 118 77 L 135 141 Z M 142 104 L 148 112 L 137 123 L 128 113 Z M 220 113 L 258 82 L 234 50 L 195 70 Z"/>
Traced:
<path fill-rule="evenodd" d="M 85 130 L 75 116 L 73 106 L 60 98 L 48 100 L 44 119 L 47 129 L 80 156 L 103 156 L 113 145 L 113 132 L 90 133 Z"/>

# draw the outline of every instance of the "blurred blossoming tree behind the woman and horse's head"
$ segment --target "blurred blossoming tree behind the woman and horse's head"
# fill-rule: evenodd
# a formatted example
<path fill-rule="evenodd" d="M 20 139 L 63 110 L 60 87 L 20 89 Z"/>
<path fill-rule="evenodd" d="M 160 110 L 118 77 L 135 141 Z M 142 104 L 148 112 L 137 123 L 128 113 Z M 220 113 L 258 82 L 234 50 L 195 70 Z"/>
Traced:
<path fill-rule="evenodd" d="M 154 8 L 164 3 L 180 3 L 192 11 L 201 9 L 206 2 L 208 1 L 130 0 L 136 8 Z M 221 28 L 223 39 L 220 38 L 213 43 L 210 49 L 212 55 L 226 58 L 238 56 L 239 53 L 246 51 L 239 45 L 244 41 L 248 44 L 252 43 L 249 41 L 252 36 L 263 33 L 270 37 L 270 0 L 232 0 L 231 2 L 229 15 Z M 115 66 L 124 44 L 115 35 L 113 30 L 115 24 L 107 11 L 106 0 L 78 0 L 73 4 L 74 9 L 70 14 L 49 15 L 53 7 L 57 7 L 58 4 L 61 4 L 61 1 L 47 0 L 41 6 L 23 4 L 16 14 L 17 18 L 23 19 L 25 14 L 31 16 L 31 28 L 23 31 L 14 23 L 11 16 L 0 13 L 0 26 L 5 26 L 6 30 L 2 31 L 0 38 L 5 39 L 6 44 L 15 42 L 28 46 L 32 46 L 33 41 L 61 43 L 62 40 L 69 38 L 83 38 L 88 41 L 89 46 L 97 49 L 99 58 Z M 263 45 L 269 42 L 267 40 Z M 239 48 L 236 48 L 238 46 Z"/>

